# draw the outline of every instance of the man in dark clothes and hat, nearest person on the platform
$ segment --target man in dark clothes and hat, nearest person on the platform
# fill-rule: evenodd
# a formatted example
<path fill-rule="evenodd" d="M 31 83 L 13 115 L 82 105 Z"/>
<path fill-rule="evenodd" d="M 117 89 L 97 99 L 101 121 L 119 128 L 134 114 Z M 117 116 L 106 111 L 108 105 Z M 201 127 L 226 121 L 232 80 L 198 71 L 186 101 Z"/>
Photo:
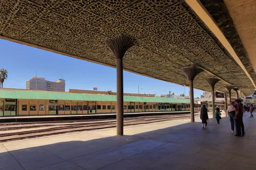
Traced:
<path fill-rule="evenodd" d="M 243 115 L 244 115 L 244 107 L 239 98 L 236 99 L 237 107 L 236 107 L 236 115 L 234 116 L 234 120 L 237 122 L 237 134 L 235 136 L 244 136 L 244 123 L 243 123 Z"/>

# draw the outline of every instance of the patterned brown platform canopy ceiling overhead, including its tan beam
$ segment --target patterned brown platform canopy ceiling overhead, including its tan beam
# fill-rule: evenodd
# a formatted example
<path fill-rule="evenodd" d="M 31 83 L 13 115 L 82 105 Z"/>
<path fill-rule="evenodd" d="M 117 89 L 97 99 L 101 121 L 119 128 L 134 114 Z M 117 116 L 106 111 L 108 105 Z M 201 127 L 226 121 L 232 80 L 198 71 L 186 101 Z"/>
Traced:
<path fill-rule="evenodd" d="M 238 2 L 247 1 L 225 1 L 228 6 Z M 205 79 L 217 77 L 216 90 L 232 84 L 250 95 L 256 74 L 225 3 L 2 0 L 0 38 L 115 67 L 104 41 L 123 34 L 135 42 L 123 59 L 127 71 L 188 86 L 180 68 L 196 65 L 204 71 L 195 88 L 210 91 Z"/>

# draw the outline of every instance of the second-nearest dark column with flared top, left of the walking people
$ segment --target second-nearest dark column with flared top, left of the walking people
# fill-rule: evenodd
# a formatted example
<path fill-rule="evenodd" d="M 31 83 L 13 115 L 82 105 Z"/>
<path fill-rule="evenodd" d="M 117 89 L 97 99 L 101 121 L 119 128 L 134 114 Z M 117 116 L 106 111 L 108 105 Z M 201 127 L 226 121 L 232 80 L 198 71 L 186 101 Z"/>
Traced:
<path fill-rule="evenodd" d="M 190 122 L 195 122 L 195 113 L 194 113 L 194 85 L 193 81 L 195 77 L 202 72 L 203 70 L 197 68 L 196 66 L 188 66 L 181 68 L 182 71 L 185 73 L 187 80 L 189 82 L 190 88 Z"/>

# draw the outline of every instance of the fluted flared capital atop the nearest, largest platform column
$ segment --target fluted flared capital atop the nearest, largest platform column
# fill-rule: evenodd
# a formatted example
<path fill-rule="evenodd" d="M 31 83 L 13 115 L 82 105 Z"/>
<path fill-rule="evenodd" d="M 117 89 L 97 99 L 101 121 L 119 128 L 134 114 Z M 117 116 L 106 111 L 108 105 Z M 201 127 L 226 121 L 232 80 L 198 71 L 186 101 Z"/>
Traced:
<path fill-rule="evenodd" d="M 130 38 L 123 35 L 110 38 L 105 41 L 105 44 L 114 53 L 116 59 L 122 59 L 125 52 L 134 45 Z"/>

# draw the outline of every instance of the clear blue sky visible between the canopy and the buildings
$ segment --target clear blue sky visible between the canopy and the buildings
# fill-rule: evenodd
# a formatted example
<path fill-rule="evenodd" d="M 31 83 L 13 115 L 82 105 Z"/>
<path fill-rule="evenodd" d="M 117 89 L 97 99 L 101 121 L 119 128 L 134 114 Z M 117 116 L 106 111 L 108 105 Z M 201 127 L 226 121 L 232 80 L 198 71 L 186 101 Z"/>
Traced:
<path fill-rule="evenodd" d="M 8 79 L 4 82 L 6 88 L 26 88 L 26 81 L 32 76 L 44 77 L 49 81 L 57 79 L 66 80 L 66 91 L 68 89 L 87 89 L 116 91 L 116 69 L 87 62 L 84 60 L 67 57 L 52 52 L 40 50 L 0 39 L 0 68 L 8 71 Z M 167 94 L 172 91 L 175 94 L 184 93 L 184 87 L 152 79 L 131 72 L 124 71 L 124 92 L 140 92 Z M 142 89 L 141 89 L 142 88 Z M 185 88 L 188 95 L 189 88 Z M 195 97 L 203 93 L 194 90 Z"/>

